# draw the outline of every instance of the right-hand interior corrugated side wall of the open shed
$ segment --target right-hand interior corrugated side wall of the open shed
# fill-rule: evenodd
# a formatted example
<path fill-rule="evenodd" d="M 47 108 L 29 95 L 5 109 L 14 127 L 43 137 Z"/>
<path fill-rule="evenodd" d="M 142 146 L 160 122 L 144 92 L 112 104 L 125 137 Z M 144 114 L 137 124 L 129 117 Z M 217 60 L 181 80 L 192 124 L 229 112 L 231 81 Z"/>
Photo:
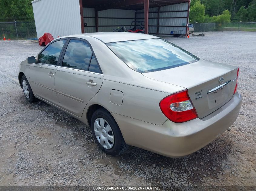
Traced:
<path fill-rule="evenodd" d="M 185 34 L 188 3 L 168 5 L 159 8 L 159 34 Z M 148 32 L 157 34 L 158 8 L 149 8 Z M 136 20 L 144 21 L 144 10 L 136 11 Z"/>

